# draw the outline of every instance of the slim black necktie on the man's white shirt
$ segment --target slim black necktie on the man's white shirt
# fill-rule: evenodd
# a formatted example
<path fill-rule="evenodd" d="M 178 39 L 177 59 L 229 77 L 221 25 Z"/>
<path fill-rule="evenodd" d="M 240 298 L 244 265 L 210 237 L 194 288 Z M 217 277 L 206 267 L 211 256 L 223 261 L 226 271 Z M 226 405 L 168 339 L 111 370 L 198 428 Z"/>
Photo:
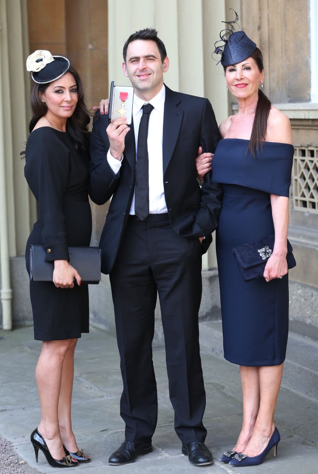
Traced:
<path fill-rule="evenodd" d="M 140 119 L 137 162 L 136 162 L 136 182 L 135 182 L 135 214 L 140 220 L 146 219 L 149 215 L 149 164 L 148 164 L 148 124 L 150 113 L 154 106 L 145 104 L 143 114 Z"/>

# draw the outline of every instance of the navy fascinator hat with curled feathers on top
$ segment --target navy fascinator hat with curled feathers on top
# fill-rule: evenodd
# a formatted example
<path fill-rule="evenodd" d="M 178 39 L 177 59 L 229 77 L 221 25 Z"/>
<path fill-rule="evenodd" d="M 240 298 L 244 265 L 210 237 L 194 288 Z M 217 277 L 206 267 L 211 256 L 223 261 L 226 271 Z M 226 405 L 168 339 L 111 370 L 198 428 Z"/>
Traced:
<path fill-rule="evenodd" d="M 230 10 L 233 10 L 233 8 L 230 8 Z M 244 61 L 244 59 L 249 58 L 256 49 L 256 43 L 250 40 L 244 31 L 235 31 L 235 25 L 238 26 L 238 14 L 235 10 L 233 11 L 236 14 L 236 19 L 222 22 L 226 23 L 228 28 L 221 31 L 220 40 L 214 43 L 215 50 L 212 53 L 212 55 L 221 54 L 220 61 L 223 67 Z M 224 44 L 217 46 L 220 42 L 224 42 Z"/>

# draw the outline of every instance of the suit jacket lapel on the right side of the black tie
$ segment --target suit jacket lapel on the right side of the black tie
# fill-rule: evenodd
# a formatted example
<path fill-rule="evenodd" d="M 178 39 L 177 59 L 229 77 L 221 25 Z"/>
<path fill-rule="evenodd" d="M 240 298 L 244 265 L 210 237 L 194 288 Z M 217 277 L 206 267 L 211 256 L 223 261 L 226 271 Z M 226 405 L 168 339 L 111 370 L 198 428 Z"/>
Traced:
<path fill-rule="evenodd" d="M 177 107 L 180 98 L 177 93 L 165 86 L 162 134 L 163 176 L 172 157 L 180 132 L 183 110 Z"/>

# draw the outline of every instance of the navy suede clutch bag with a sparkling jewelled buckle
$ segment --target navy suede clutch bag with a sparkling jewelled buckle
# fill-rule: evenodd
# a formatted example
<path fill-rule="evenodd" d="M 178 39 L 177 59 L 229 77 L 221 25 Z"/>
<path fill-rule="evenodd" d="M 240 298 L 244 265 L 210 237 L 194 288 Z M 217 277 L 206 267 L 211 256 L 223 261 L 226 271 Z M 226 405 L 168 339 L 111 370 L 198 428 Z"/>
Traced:
<path fill-rule="evenodd" d="M 273 253 L 275 236 L 260 238 L 254 242 L 244 243 L 232 249 L 235 261 L 245 281 L 263 277 L 268 258 Z M 296 266 L 296 260 L 292 253 L 293 248 L 287 240 L 287 266 Z"/>

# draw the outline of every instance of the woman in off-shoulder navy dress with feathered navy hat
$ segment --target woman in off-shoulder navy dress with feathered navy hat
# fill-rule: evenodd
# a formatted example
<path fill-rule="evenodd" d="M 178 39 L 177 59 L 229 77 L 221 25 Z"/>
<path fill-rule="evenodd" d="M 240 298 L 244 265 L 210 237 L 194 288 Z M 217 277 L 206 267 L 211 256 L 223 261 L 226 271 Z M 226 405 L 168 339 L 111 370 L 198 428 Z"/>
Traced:
<path fill-rule="evenodd" d="M 224 356 L 240 367 L 243 422 L 236 445 L 221 461 L 251 466 L 262 463 L 274 446 L 276 454 L 280 439 L 274 413 L 288 335 L 286 253 L 294 150 L 289 119 L 261 90 L 261 51 L 244 32 L 232 33 L 229 27 L 223 51 L 215 52 L 222 53 L 238 113 L 219 127 L 223 140 L 212 159 L 212 176 L 223 185 L 216 249 Z M 198 157 L 198 173 L 208 168 L 209 159 Z M 263 277 L 245 282 L 233 247 L 274 234 Z"/>

